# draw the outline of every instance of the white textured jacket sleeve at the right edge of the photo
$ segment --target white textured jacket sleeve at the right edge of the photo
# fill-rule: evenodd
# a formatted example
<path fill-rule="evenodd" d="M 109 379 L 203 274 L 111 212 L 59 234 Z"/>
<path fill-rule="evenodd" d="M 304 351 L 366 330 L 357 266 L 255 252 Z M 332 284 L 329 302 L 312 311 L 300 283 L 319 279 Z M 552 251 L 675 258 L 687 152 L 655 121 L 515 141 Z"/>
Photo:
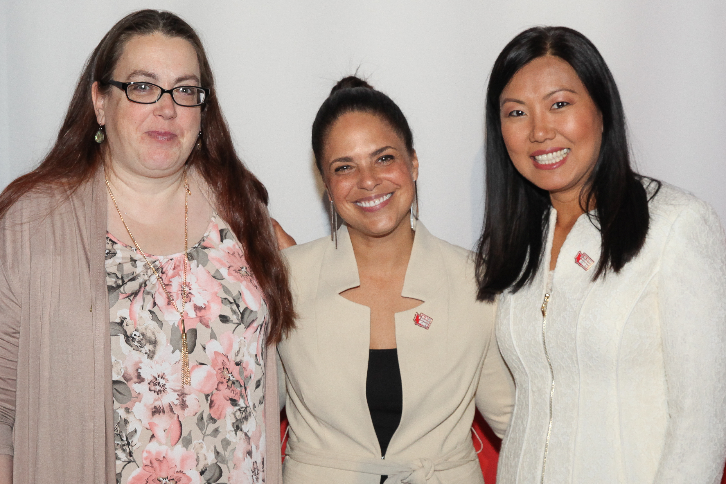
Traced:
<path fill-rule="evenodd" d="M 669 421 L 653 482 L 716 484 L 726 456 L 726 238 L 705 202 L 672 224 L 657 282 Z"/>

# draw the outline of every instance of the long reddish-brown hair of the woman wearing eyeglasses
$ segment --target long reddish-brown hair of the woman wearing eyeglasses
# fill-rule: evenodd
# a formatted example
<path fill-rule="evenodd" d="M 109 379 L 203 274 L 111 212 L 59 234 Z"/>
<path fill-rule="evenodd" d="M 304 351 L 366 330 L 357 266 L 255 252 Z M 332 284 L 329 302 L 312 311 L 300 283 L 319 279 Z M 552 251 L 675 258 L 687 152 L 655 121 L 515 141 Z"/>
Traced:
<path fill-rule="evenodd" d="M 91 53 L 54 146 L 36 169 L 12 181 L 0 194 L 0 217 L 23 194 L 60 189 L 72 194 L 89 181 L 104 160 L 106 144 L 94 141 L 98 130 L 91 102 L 91 86 L 109 89 L 113 70 L 126 42 L 134 36 L 161 33 L 184 38 L 197 52 L 201 85 L 211 89 L 203 104 L 200 147 L 192 149 L 187 165 L 203 176 L 215 194 L 216 210 L 242 243 L 250 269 L 257 279 L 269 309 L 267 343 L 278 343 L 293 329 L 293 298 L 287 284 L 287 268 L 277 248 L 267 212 L 264 185 L 237 156 L 214 89 L 214 78 L 202 42 L 195 30 L 171 12 L 139 10 L 119 20 Z"/>

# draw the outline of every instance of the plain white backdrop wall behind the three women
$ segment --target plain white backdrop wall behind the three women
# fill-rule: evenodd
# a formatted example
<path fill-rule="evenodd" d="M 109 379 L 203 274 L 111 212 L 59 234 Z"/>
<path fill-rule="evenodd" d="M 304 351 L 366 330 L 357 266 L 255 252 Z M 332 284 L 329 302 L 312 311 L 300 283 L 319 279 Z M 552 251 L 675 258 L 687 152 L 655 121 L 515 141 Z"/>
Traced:
<path fill-rule="evenodd" d="M 205 41 L 237 147 L 298 242 L 327 234 L 310 127 L 335 81 L 359 73 L 407 115 L 422 220 L 472 247 L 483 216 L 487 75 L 513 36 L 566 25 L 619 83 L 641 173 L 726 219 L 726 2 L 9 1 L 0 3 L 0 188 L 49 149 L 81 67 L 139 8 L 169 9 Z"/>

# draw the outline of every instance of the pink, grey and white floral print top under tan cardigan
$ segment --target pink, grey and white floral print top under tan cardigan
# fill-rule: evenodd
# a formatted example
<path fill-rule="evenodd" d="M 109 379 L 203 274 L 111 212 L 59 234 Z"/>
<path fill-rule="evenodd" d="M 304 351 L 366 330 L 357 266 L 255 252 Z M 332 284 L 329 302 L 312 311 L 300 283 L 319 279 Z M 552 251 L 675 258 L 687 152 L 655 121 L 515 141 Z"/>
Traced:
<path fill-rule="evenodd" d="M 183 253 L 148 255 L 181 308 L 192 385 L 181 385 L 179 313 L 134 247 L 106 237 L 118 484 L 264 483 L 266 305 L 219 216 Z"/>

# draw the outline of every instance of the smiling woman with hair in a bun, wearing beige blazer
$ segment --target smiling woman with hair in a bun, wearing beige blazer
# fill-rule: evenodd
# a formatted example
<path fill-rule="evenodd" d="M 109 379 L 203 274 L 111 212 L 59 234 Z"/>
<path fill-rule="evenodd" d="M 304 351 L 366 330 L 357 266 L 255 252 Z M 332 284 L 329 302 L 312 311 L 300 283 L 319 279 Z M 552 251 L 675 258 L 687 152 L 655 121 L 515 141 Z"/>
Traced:
<path fill-rule="evenodd" d="M 475 406 L 501 436 L 513 387 L 469 251 L 418 220 L 406 118 L 344 78 L 317 112 L 312 146 L 331 237 L 284 251 L 298 314 L 278 345 L 285 483 L 483 483 Z"/>

